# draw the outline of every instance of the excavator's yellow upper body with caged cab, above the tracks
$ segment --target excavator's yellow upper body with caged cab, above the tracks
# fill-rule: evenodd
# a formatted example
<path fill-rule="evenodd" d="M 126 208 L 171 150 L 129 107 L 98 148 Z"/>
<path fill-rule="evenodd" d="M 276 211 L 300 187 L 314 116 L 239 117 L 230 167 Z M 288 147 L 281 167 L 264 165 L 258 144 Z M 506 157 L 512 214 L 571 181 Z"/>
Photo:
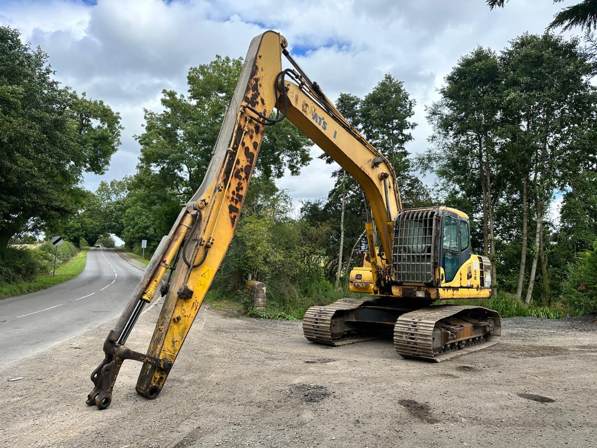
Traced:
<path fill-rule="evenodd" d="M 365 254 L 362 266 L 351 272 L 351 291 L 383 295 L 385 284 L 395 297 L 438 300 L 491 295 L 490 260 L 471 253 L 469 217 L 455 208 L 400 211 L 393 222 L 390 269 L 377 247 L 376 255 L 379 274 L 368 272 L 374 268 L 370 254 Z"/>

